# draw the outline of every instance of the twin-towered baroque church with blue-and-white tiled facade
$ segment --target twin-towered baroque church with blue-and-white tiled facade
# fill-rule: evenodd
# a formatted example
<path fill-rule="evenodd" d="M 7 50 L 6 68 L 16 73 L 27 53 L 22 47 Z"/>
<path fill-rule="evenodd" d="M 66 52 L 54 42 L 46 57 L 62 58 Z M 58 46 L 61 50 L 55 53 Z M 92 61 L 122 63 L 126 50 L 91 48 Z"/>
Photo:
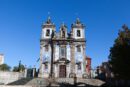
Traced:
<path fill-rule="evenodd" d="M 77 18 L 71 31 L 67 30 L 63 23 L 56 32 L 50 17 L 42 24 L 38 77 L 83 78 L 87 75 L 85 26 Z"/>

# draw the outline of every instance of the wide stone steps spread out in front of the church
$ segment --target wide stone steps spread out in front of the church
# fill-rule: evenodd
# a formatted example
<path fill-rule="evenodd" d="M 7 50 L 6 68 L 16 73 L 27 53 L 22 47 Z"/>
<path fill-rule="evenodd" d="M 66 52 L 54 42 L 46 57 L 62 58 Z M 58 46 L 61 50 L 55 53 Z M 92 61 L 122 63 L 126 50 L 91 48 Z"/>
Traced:
<path fill-rule="evenodd" d="M 82 78 L 23 78 L 18 81 L 9 83 L 8 85 L 23 85 L 32 87 L 45 87 L 45 86 L 57 86 L 57 87 L 97 87 L 103 85 L 104 82 L 98 79 L 82 79 Z"/>

